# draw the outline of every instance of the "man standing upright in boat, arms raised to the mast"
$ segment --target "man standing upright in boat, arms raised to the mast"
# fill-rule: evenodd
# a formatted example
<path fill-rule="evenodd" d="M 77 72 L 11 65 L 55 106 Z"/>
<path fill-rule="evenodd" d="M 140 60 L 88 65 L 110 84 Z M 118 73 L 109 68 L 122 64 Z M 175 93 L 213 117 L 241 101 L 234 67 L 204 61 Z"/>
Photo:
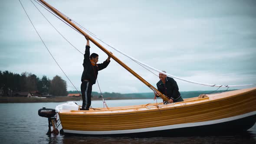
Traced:
<path fill-rule="evenodd" d="M 92 85 L 96 82 L 98 71 L 105 69 L 110 62 L 110 56 L 108 56 L 108 59 L 106 59 L 103 63 L 96 64 L 98 62 L 98 54 L 92 53 L 90 56 L 89 36 L 85 35 L 85 39 L 87 40 L 87 43 L 85 46 L 83 62 L 84 71 L 81 77 L 81 92 L 83 103 L 82 109 L 80 110 L 89 110 L 89 107 L 91 106 Z"/>

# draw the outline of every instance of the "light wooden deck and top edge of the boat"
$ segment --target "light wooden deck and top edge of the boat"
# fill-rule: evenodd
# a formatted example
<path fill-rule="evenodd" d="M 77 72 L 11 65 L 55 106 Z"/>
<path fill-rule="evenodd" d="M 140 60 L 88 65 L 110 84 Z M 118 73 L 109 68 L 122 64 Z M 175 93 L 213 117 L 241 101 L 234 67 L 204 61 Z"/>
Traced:
<path fill-rule="evenodd" d="M 222 93 L 215 93 L 210 95 L 199 95 L 198 97 L 194 98 L 184 98 L 184 101 L 182 102 L 176 102 L 171 104 L 163 104 L 161 103 L 148 103 L 144 105 L 131 105 L 131 106 L 120 106 L 120 107 L 110 107 L 110 108 L 90 108 L 89 111 L 61 111 L 60 113 L 65 115 L 81 115 L 81 114 L 87 114 L 87 115 L 97 115 L 97 114 L 121 114 L 121 113 L 127 113 L 127 112 L 139 112 L 139 111 L 147 111 L 147 110 L 164 110 L 166 108 L 177 108 L 177 107 L 186 107 L 190 105 L 196 105 L 198 103 L 205 103 L 208 101 L 216 101 L 220 99 L 235 97 L 239 95 L 244 95 L 249 92 L 256 91 L 256 87 L 254 88 L 247 88 L 247 89 L 241 89 L 241 90 L 235 90 L 230 92 L 222 92 Z"/>

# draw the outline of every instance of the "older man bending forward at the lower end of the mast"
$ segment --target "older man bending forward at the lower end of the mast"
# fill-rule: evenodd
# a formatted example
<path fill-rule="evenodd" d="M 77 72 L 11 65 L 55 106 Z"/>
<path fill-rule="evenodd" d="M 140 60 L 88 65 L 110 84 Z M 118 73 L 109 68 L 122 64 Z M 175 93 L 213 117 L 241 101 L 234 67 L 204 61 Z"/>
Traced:
<path fill-rule="evenodd" d="M 166 73 L 165 71 L 162 72 Z M 173 78 L 167 77 L 167 75 L 160 72 L 159 79 L 160 81 L 157 83 L 158 91 L 170 98 L 167 101 L 168 103 L 184 101 L 181 98 L 177 82 Z M 158 95 L 159 93 L 156 94 L 157 97 Z"/>

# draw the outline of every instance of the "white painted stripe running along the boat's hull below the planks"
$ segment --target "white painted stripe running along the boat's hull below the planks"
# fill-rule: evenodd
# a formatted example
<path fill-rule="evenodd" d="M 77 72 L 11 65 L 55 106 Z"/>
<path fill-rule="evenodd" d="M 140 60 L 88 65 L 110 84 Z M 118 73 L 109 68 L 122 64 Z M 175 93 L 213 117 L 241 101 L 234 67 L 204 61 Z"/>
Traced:
<path fill-rule="evenodd" d="M 168 130 L 168 129 L 174 129 L 174 128 L 186 128 L 186 127 L 195 127 L 195 126 L 201 126 L 201 125 L 218 124 L 222 122 L 233 121 L 236 119 L 249 117 L 252 115 L 256 115 L 256 111 L 252 111 L 243 115 L 237 115 L 230 118 L 222 118 L 222 119 L 217 119 L 212 121 L 194 122 L 194 123 L 186 123 L 186 124 L 173 124 L 173 125 L 165 125 L 165 126 L 152 127 L 152 128 L 139 128 L 139 129 L 132 129 L 132 130 L 117 130 L 117 131 L 74 131 L 74 130 L 63 129 L 63 131 L 66 133 L 74 133 L 74 134 L 128 134 L 128 133 L 161 131 L 161 130 Z"/>

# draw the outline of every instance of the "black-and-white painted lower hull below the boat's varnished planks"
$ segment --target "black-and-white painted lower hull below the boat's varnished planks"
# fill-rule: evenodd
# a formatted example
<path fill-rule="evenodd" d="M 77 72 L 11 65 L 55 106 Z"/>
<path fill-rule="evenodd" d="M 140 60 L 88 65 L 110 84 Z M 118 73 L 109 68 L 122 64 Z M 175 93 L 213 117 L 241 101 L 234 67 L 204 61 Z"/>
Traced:
<path fill-rule="evenodd" d="M 245 116 L 245 115 L 243 115 Z M 241 117 L 241 116 L 240 116 Z M 252 128 L 256 121 L 256 115 L 246 116 L 244 118 L 236 117 L 238 119 L 220 122 L 216 124 L 206 124 L 198 123 L 198 124 L 187 124 L 184 125 L 183 128 L 163 128 L 163 130 L 156 130 L 159 128 L 151 128 L 148 131 L 137 132 L 138 130 L 127 131 L 126 133 L 122 133 L 120 131 L 70 131 L 63 130 L 65 134 L 82 134 L 86 136 L 113 136 L 113 137 L 125 137 L 125 136 L 133 136 L 133 137 L 152 137 L 152 136 L 193 136 L 193 135 L 209 135 L 209 134 L 234 134 L 237 132 L 247 131 L 249 128 Z M 232 118 L 230 118 L 232 119 Z M 221 121 L 221 120 L 220 120 Z M 214 123 L 211 121 L 209 123 Z M 202 125 L 200 125 L 202 124 Z M 192 126 L 197 125 L 197 126 Z M 175 126 L 174 126 L 175 127 Z M 182 126 L 180 126 L 182 127 Z"/>

